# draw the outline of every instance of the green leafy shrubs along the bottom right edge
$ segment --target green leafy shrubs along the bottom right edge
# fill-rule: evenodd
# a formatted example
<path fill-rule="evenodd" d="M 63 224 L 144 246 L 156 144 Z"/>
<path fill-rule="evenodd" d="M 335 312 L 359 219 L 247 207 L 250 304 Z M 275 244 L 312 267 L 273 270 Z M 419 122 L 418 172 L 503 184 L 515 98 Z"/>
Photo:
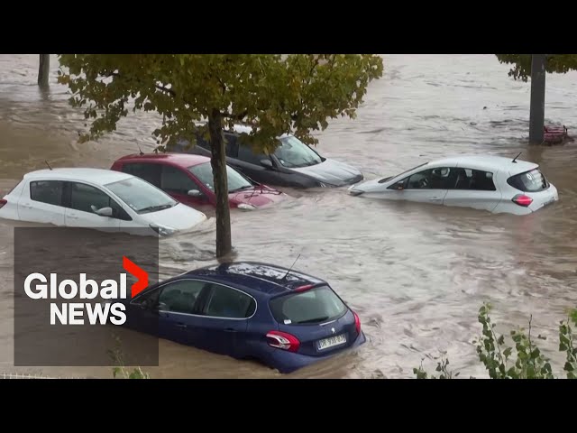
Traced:
<path fill-rule="evenodd" d="M 527 333 L 524 328 L 511 330 L 512 345 L 506 345 L 505 336 L 497 335 L 495 324 L 490 319 L 490 305 L 483 304 L 479 309 L 478 321 L 481 324 L 481 336 L 473 342 L 477 355 L 484 364 L 491 379 L 554 379 L 551 361 L 542 354 L 532 336 L 532 317 L 529 318 Z M 563 371 L 568 379 L 577 377 L 577 347 L 573 344 L 571 323 L 577 325 L 577 309 L 570 312 L 568 318 L 559 324 L 559 351 L 566 354 Z M 537 336 L 545 339 L 543 336 Z M 515 350 L 515 359 L 512 358 Z M 439 379 L 450 379 L 458 373 L 447 370 L 448 360 L 437 363 Z M 429 376 L 423 368 L 414 368 L 417 379 L 435 378 Z"/>

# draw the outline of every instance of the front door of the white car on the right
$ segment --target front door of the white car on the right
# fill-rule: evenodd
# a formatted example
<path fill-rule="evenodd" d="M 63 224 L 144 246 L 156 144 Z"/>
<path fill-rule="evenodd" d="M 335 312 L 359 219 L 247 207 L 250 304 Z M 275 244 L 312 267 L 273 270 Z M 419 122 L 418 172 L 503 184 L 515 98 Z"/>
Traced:
<path fill-rule="evenodd" d="M 442 205 L 453 170 L 452 167 L 438 167 L 411 174 L 400 185 L 402 188 L 398 189 L 398 199 Z M 396 185 L 391 189 L 396 189 Z"/>

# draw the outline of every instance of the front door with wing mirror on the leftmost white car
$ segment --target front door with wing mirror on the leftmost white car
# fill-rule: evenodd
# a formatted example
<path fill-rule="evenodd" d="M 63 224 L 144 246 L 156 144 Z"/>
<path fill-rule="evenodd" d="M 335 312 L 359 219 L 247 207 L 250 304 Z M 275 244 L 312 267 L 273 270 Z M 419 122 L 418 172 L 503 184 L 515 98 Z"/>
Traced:
<path fill-rule="evenodd" d="M 66 211 L 64 222 L 67 227 L 98 228 L 105 231 L 119 231 L 120 219 L 114 215 L 118 204 L 105 191 L 84 182 L 66 182 Z M 110 216 L 96 212 L 110 207 Z"/>

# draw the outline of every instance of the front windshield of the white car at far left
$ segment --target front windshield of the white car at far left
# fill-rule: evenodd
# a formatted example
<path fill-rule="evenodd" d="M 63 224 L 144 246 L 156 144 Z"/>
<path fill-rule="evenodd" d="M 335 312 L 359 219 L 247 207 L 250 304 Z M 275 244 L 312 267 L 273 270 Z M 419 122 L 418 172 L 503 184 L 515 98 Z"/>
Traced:
<path fill-rule="evenodd" d="M 108 183 L 105 187 L 114 192 L 118 198 L 138 214 L 168 209 L 179 203 L 146 180 L 136 177 Z"/>

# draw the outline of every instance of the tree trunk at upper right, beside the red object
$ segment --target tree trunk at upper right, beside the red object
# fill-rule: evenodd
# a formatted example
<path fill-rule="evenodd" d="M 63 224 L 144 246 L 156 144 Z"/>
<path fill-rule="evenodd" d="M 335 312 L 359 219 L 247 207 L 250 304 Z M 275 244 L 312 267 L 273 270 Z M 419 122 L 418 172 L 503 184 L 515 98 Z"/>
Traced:
<path fill-rule="evenodd" d="M 529 114 L 529 144 L 542 144 L 545 127 L 545 54 L 531 58 L 531 108 Z"/>

